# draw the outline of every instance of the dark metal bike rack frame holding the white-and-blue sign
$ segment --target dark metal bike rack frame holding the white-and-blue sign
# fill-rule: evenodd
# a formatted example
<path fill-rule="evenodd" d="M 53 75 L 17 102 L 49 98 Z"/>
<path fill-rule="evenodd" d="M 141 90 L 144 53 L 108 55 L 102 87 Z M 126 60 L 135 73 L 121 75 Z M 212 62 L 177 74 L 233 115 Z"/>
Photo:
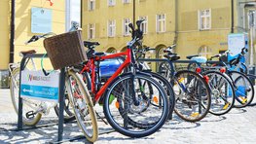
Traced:
<path fill-rule="evenodd" d="M 21 71 L 25 68 L 25 61 L 27 58 L 41 58 L 44 54 L 25 54 L 23 55 L 21 62 L 20 62 L 20 71 L 19 71 L 19 80 L 21 80 Z M 19 81 L 19 88 L 20 88 Z M 58 132 L 57 132 L 57 141 L 61 141 L 63 139 L 63 123 L 64 123 L 64 83 L 65 83 L 65 69 L 62 68 L 60 70 L 60 79 L 59 79 L 59 90 L 58 90 L 58 101 L 59 101 L 59 115 L 58 115 Z M 22 123 L 22 98 L 20 97 L 20 89 L 18 90 L 18 130 L 23 130 L 23 123 Z M 53 125 L 46 125 L 46 126 L 53 126 Z M 37 128 L 31 127 L 26 129 Z"/>

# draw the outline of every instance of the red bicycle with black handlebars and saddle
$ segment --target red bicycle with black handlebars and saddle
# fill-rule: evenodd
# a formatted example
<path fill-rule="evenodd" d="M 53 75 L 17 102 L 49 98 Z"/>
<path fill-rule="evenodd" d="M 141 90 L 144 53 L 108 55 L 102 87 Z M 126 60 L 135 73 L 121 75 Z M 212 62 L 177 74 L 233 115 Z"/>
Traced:
<path fill-rule="evenodd" d="M 137 21 L 139 27 L 142 20 Z M 143 32 L 132 30 L 132 40 L 126 52 L 119 54 L 95 53 L 95 42 L 85 42 L 89 48 L 89 61 L 80 67 L 85 83 L 91 90 L 94 104 L 103 103 L 103 112 L 108 123 L 120 133 L 130 137 L 143 137 L 159 130 L 168 116 L 168 101 L 165 90 L 150 74 L 136 69 L 136 47 L 143 39 Z M 116 72 L 102 84 L 100 62 L 123 58 Z"/>

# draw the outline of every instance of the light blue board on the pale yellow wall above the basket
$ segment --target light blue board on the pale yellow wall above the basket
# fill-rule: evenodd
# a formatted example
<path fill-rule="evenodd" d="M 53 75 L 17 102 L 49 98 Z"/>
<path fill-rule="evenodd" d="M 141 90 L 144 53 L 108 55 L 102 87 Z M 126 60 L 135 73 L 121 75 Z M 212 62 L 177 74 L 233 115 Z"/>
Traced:
<path fill-rule="evenodd" d="M 52 32 L 52 10 L 43 8 L 31 8 L 31 32 Z"/>

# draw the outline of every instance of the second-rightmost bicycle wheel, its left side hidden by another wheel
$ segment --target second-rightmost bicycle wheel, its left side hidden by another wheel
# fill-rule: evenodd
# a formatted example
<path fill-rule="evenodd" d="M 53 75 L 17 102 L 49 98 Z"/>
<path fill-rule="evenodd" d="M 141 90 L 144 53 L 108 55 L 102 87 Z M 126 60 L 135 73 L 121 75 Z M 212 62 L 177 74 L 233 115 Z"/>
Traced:
<path fill-rule="evenodd" d="M 220 116 L 228 113 L 235 102 L 235 90 L 228 77 L 218 71 L 206 71 L 203 75 L 209 78 L 211 105 L 209 112 Z"/>

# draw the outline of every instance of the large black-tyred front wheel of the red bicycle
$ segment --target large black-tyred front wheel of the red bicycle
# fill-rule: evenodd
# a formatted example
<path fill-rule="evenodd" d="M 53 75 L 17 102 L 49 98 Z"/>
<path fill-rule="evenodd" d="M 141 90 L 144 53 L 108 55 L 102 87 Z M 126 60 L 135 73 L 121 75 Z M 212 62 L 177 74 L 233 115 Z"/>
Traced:
<path fill-rule="evenodd" d="M 140 88 L 148 83 L 149 88 Z M 123 74 L 105 92 L 103 110 L 108 123 L 129 137 L 148 136 L 164 124 L 168 116 L 165 90 L 145 74 Z"/>

